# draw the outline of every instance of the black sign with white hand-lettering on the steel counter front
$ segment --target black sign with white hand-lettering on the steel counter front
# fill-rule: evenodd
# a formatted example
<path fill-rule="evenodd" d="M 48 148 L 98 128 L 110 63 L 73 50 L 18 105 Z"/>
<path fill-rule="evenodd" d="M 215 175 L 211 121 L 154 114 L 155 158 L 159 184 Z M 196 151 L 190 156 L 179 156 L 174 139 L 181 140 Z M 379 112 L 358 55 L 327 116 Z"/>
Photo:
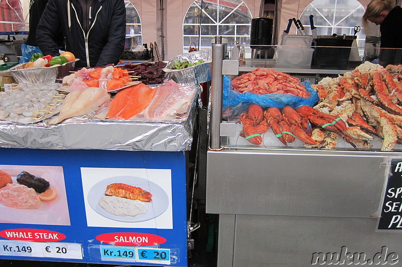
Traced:
<path fill-rule="evenodd" d="M 392 159 L 378 230 L 402 230 L 402 158 Z"/>

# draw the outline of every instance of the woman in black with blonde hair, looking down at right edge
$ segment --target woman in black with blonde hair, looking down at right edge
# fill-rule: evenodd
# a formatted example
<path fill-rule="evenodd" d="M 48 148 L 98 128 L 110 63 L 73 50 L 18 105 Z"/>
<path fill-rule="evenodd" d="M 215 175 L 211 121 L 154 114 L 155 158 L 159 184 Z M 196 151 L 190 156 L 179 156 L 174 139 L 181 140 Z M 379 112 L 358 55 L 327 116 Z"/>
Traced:
<path fill-rule="evenodd" d="M 363 15 L 363 26 L 371 22 L 380 25 L 379 64 L 402 63 L 402 8 L 394 0 L 372 0 Z M 385 49 L 394 48 L 394 49 Z"/>

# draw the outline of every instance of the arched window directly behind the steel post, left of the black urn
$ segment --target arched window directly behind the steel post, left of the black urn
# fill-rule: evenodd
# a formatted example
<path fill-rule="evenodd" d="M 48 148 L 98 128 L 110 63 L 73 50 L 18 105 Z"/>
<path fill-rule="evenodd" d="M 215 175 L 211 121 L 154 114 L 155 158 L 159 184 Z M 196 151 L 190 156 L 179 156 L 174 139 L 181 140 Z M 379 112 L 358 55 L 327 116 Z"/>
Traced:
<path fill-rule="evenodd" d="M 228 40 L 228 45 L 250 44 L 251 13 L 242 0 L 196 0 L 183 20 L 183 53 L 190 45 L 211 48 L 216 35 Z M 194 47 L 192 44 L 192 47 Z"/>

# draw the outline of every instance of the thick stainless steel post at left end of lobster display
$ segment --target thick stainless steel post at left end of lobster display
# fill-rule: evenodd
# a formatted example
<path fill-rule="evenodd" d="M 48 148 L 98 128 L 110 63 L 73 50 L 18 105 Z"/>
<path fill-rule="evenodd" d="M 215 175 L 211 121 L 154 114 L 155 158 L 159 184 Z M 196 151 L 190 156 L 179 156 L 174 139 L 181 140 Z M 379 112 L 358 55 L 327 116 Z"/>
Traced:
<path fill-rule="evenodd" d="M 225 45 L 222 36 L 215 37 L 212 44 L 212 81 L 211 81 L 211 118 L 210 118 L 210 147 L 221 148 L 221 122 L 222 122 L 222 91 L 223 75 L 222 62 L 225 58 Z"/>

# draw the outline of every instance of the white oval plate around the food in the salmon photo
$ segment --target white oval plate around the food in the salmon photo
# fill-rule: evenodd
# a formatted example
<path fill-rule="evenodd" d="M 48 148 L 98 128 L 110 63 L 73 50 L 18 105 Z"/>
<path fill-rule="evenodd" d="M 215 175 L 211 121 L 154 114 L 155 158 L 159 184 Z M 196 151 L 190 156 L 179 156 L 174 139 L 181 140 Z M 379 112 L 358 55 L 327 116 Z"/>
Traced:
<path fill-rule="evenodd" d="M 99 200 L 105 196 L 106 186 L 112 183 L 125 183 L 133 185 L 147 190 L 152 194 L 152 201 L 143 202 L 148 208 L 148 212 L 137 216 L 117 216 L 105 211 L 99 206 Z M 169 198 L 166 192 L 156 183 L 153 183 L 147 179 L 135 177 L 135 176 L 115 176 L 105 180 L 99 181 L 94 184 L 88 192 L 88 203 L 93 210 L 102 216 L 105 216 L 112 220 L 125 221 L 125 222 L 139 222 L 149 219 L 153 219 L 167 209 L 169 205 Z"/>

